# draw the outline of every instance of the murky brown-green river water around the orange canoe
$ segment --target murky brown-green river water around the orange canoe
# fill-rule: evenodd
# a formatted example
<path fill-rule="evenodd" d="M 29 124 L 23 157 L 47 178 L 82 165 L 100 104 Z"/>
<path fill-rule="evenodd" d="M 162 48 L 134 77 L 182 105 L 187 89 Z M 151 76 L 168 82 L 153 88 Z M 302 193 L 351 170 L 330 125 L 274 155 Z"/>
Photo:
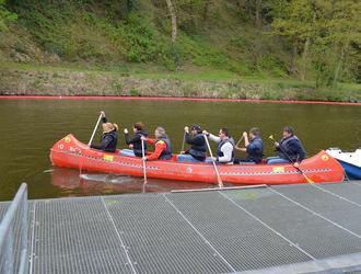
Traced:
<path fill-rule="evenodd" d="M 125 147 L 123 128 L 142 121 L 153 135 L 163 126 L 179 151 L 185 125 L 199 124 L 217 134 L 228 126 L 237 140 L 244 130 L 260 128 L 265 155 L 273 153 L 269 135 L 280 138 L 283 125 L 292 125 L 307 155 L 339 147 L 361 146 L 361 106 L 284 103 L 147 101 L 147 100 L 0 100 L 1 153 L 0 201 L 12 199 L 21 182 L 28 184 L 30 198 L 164 192 L 174 189 L 209 187 L 208 184 L 149 180 L 112 174 L 79 176 L 71 169 L 59 169 L 49 161 L 51 146 L 72 133 L 88 142 L 104 110 L 121 128 L 118 147 Z M 94 142 L 100 139 L 101 128 Z M 213 146 L 214 149 L 214 146 Z M 240 153 L 240 152 L 238 152 Z M 242 157 L 242 153 L 238 155 Z"/>

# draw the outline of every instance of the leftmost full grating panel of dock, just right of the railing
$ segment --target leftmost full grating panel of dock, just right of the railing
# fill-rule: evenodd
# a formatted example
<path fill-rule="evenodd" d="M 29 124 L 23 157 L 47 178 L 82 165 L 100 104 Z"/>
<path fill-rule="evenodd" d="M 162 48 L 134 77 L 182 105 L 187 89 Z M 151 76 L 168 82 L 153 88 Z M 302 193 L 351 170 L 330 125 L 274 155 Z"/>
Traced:
<path fill-rule="evenodd" d="M 38 201 L 31 273 L 131 273 L 101 197 Z"/>

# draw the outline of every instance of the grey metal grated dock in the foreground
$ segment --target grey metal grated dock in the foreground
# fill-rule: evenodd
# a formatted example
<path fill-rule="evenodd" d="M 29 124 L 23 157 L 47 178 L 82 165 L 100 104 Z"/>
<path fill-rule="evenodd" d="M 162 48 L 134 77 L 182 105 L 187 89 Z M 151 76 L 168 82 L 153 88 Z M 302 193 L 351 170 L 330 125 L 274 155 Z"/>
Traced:
<path fill-rule="evenodd" d="M 361 271 L 361 181 L 30 201 L 28 224 L 36 274 Z"/>

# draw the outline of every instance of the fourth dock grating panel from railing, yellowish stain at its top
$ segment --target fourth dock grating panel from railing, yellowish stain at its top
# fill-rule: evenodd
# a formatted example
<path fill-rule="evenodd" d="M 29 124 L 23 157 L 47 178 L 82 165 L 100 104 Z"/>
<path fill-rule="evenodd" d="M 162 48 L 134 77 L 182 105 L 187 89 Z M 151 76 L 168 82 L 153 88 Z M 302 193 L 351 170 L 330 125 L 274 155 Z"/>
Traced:
<path fill-rule="evenodd" d="M 361 252 L 361 239 L 269 189 L 226 192 L 224 195 L 315 259 Z"/>

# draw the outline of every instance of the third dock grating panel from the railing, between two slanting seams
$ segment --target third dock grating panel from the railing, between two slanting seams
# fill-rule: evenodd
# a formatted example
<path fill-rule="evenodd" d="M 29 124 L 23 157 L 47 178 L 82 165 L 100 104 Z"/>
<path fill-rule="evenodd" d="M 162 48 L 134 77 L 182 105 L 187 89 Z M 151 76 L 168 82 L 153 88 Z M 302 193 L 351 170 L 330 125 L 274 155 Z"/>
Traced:
<path fill-rule="evenodd" d="M 218 192 L 166 196 L 235 271 L 311 260 Z"/>

